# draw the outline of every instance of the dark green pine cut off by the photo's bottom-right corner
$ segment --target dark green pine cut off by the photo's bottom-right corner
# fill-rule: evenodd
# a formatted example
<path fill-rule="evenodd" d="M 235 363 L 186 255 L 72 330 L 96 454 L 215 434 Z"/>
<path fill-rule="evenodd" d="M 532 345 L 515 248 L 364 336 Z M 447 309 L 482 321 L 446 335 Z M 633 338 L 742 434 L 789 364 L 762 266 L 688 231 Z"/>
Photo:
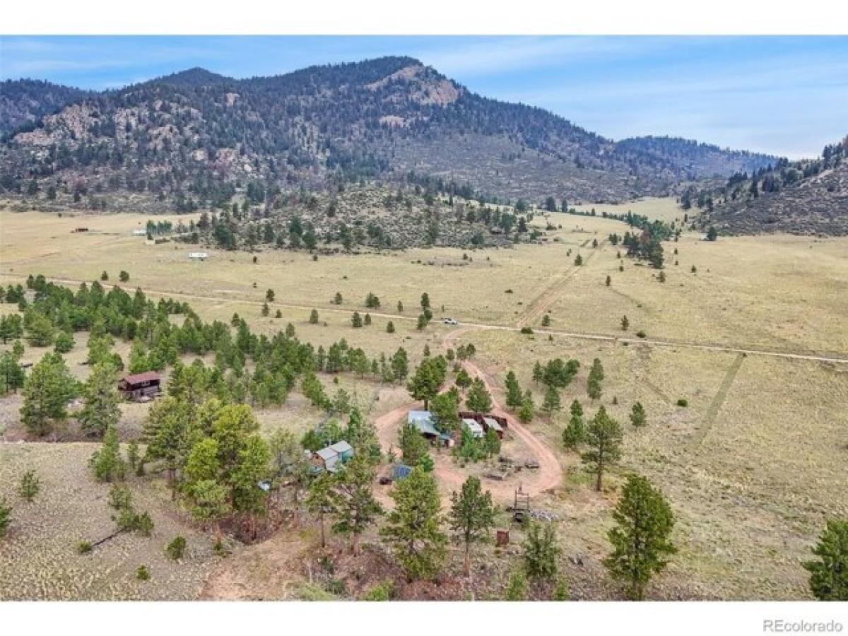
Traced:
<path fill-rule="evenodd" d="M 818 600 L 848 600 L 848 520 L 828 519 L 812 554 L 806 561 L 810 589 Z"/>

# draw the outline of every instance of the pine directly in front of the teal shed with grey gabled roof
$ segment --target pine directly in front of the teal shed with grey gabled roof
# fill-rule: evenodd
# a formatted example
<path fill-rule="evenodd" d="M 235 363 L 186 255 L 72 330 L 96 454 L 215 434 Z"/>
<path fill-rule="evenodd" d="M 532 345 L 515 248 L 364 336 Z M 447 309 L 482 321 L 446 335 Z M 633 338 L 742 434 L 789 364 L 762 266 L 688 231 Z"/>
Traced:
<path fill-rule="evenodd" d="M 354 555 L 360 553 L 360 536 L 382 515 L 382 506 L 374 499 L 374 466 L 364 456 L 354 458 L 344 465 L 334 480 L 332 505 L 336 522 L 334 533 L 351 538 Z"/>

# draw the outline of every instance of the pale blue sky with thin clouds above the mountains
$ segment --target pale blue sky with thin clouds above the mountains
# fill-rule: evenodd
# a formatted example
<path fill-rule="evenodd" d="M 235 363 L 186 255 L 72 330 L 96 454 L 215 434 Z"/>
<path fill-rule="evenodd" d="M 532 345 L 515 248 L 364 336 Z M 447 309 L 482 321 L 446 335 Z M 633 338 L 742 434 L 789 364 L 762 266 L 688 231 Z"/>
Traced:
<path fill-rule="evenodd" d="M 192 66 L 247 77 L 390 54 L 613 139 L 795 158 L 848 134 L 848 37 L 2 36 L 0 76 L 103 89 Z"/>

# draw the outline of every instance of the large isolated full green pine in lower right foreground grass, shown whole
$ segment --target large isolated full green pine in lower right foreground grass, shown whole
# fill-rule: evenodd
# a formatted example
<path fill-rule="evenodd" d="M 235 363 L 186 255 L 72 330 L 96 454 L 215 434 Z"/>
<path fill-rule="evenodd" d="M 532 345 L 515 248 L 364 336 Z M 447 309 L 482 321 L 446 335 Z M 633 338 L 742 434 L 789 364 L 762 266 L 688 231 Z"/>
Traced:
<path fill-rule="evenodd" d="M 613 551 L 604 565 L 611 576 L 628 586 L 628 598 L 642 600 L 645 586 L 677 552 L 669 537 L 674 516 L 661 491 L 645 477 L 632 475 L 612 513 L 616 522 L 607 536 Z"/>

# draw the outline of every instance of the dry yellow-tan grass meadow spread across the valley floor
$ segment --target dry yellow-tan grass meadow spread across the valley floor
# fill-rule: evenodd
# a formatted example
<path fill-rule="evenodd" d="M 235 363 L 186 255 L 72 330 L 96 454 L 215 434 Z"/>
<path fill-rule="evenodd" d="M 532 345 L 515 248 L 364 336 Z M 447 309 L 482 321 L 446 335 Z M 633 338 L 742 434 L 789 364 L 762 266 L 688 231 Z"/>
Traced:
<path fill-rule="evenodd" d="M 423 332 L 416 330 L 419 298 L 426 291 L 437 318 L 510 327 L 466 326 L 460 341 L 475 344 L 477 365 L 497 385 L 503 386 L 506 371 L 514 369 L 522 386 L 533 389 L 537 405 L 542 395 L 531 381 L 536 360 L 563 357 L 582 363 L 562 394 L 564 410 L 553 421 L 539 416 L 529 425 L 563 468 L 561 487 L 533 505 L 561 519 L 565 554 L 571 557 L 564 567 L 572 597 L 615 596 L 605 583 L 600 559 L 608 551 L 605 532 L 617 488 L 628 471 L 638 471 L 663 489 L 678 518 L 679 554 L 651 588 L 651 598 L 807 599 L 801 561 L 809 557 L 826 517 L 848 515 L 848 365 L 706 351 L 686 344 L 848 358 L 848 239 L 778 235 L 720 237 L 706 243 L 700 233 L 684 232 L 678 243 L 666 243 L 667 281 L 662 283 L 649 267 L 616 258 L 618 248 L 605 239 L 627 227 L 601 218 L 597 209 L 594 217 L 537 216 L 534 226 L 544 228 L 546 221 L 559 226 L 547 232 L 543 244 L 466 250 L 467 259 L 463 250 L 449 248 L 317 260 L 273 249 L 255 254 L 208 249 L 205 262 L 189 261 L 192 246 L 148 245 L 144 237 L 131 236 L 148 220 L 145 215 L 58 218 L 3 210 L 0 283 L 22 282 L 31 273 L 92 281 L 103 270 L 114 282 L 126 270 L 129 287 L 184 298 L 207 320 L 228 320 L 237 312 L 267 332 L 291 322 L 299 338 L 316 345 L 347 338 L 370 355 L 391 354 L 403 346 L 412 361 L 420 358 L 425 343 L 438 350 L 456 328 L 434 323 Z M 670 199 L 604 209 L 682 218 Z M 71 233 L 75 226 L 91 231 Z M 595 238 L 598 248 L 591 247 Z M 567 255 L 569 249 L 572 254 Z M 583 256 L 581 267 L 573 264 L 576 254 Z M 606 276 L 611 277 L 609 287 Z M 267 288 L 276 293 L 271 315 L 280 309 L 281 318 L 259 315 Z M 330 303 L 336 292 L 343 294 L 340 306 Z M 371 326 L 354 329 L 350 315 L 354 310 L 365 313 L 369 292 L 382 300 L 382 308 L 372 312 Z M 398 315 L 399 301 L 404 312 Z M 318 325 L 308 322 L 312 308 L 319 311 Z M 0 310 L 14 308 L 0 305 Z M 524 325 L 538 330 L 545 313 L 554 332 L 550 339 L 547 333 L 516 331 Z M 626 345 L 556 333 L 622 336 L 622 315 L 630 321 L 628 336 L 644 330 L 649 339 L 667 345 Z M 396 327 L 393 334 L 385 330 L 388 320 Z M 126 345 L 121 346 L 126 353 Z M 41 353 L 27 348 L 25 361 L 36 361 Z M 84 355 L 85 335 L 78 334 L 67 358 L 79 377 L 87 372 L 80 364 Z M 586 373 L 595 357 L 602 361 L 606 379 L 603 396 L 591 404 Z M 339 386 L 353 393 L 372 417 L 409 402 L 403 388 L 377 382 L 341 377 Z M 496 397 L 502 402 L 502 395 Z M 678 406 L 680 398 L 689 405 Z M 589 413 L 605 404 L 625 428 L 622 464 L 611 472 L 601 494 L 592 490 L 577 455 L 561 449 L 572 399 L 579 399 Z M 628 411 L 637 400 L 649 420 L 640 430 L 628 423 Z M 19 396 L 0 399 L 4 439 L 23 437 L 19 407 Z M 137 435 L 146 408 L 125 406 L 125 439 Z M 265 431 L 302 431 L 321 419 L 298 393 L 284 407 L 259 410 L 258 416 Z M 149 510 L 156 522 L 153 538 L 119 537 L 95 555 L 77 555 L 79 541 L 96 539 L 112 526 L 108 488 L 92 483 L 86 473 L 92 449 L 92 444 L 78 443 L 0 444 L 0 497 L 13 503 L 15 517 L 10 538 L 0 544 L 0 571 L 14 572 L 0 577 L 0 599 L 189 599 L 215 596 L 216 589 L 232 592 L 227 583 L 235 580 L 243 589 L 262 590 L 257 594 L 263 598 L 297 596 L 282 591 L 288 589 L 287 580 L 267 562 L 288 563 L 290 553 L 315 540 L 313 534 L 286 533 L 236 550 L 224 563 L 212 555 L 209 537 L 185 522 L 156 480 L 131 482 L 138 507 Z M 515 452 L 521 455 L 523 449 Z M 15 488 L 20 473 L 31 467 L 42 475 L 43 488 L 41 498 L 27 505 Z M 517 485 L 517 476 L 510 479 Z M 164 553 L 177 533 L 189 540 L 183 563 L 168 561 Z M 142 562 L 152 574 L 146 583 L 134 577 Z M 205 591 L 204 581 L 211 584 Z"/>

